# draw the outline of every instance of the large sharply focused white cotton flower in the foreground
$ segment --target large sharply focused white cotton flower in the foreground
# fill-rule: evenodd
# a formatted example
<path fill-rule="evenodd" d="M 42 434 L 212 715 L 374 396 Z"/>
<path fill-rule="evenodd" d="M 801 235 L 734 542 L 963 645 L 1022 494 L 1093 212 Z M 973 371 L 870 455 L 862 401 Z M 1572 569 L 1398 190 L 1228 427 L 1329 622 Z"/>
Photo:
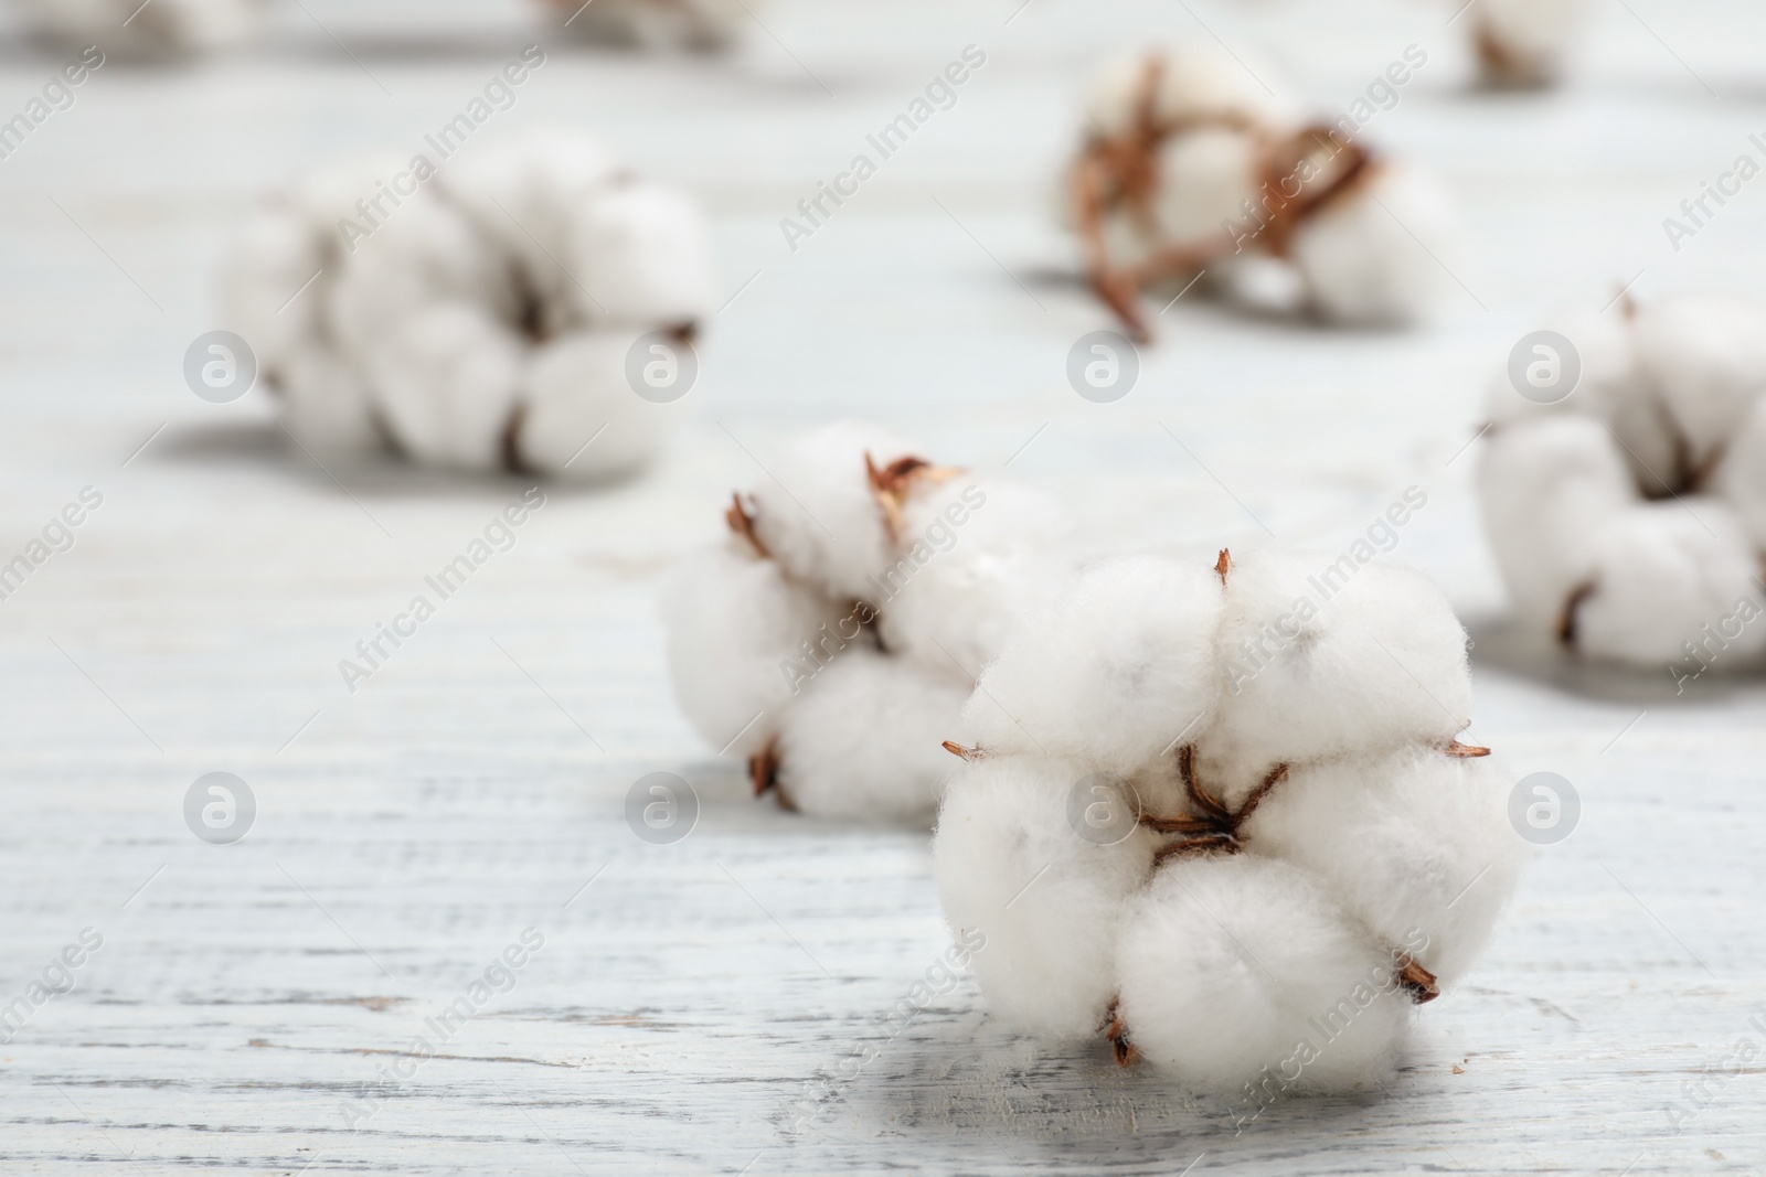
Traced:
<path fill-rule="evenodd" d="M 934 861 L 992 1015 L 1187 1085 L 1372 1087 L 1526 843 L 1418 574 L 1305 558 L 1077 574 L 964 708 Z M 1279 1076 L 1279 1078 L 1272 1078 Z"/>

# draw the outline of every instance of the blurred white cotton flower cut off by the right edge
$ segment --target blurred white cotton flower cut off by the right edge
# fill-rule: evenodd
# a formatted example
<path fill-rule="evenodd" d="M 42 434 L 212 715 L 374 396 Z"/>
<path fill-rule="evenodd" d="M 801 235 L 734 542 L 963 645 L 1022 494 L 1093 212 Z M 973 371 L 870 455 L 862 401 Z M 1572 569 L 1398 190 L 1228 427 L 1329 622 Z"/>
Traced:
<path fill-rule="evenodd" d="M 1556 319 L 1581 379 L 1491 390 L 1485 531 L 1524 625 L 1681 683 L 1766 658 L 1766 311 L 1679 296 Z M 1543 353 L 1542 353 L 1543 355 Z"/>

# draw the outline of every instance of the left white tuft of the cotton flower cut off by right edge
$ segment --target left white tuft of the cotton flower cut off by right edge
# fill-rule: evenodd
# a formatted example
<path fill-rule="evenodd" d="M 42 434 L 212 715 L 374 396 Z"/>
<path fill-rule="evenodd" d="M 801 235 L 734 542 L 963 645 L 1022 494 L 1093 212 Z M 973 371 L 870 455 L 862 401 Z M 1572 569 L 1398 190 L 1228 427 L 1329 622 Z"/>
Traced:
<path fill-rule="evenodd" d="M 1478 468 L 1483 531 L 1515 611 L 1556 630 L 1595 574 L 1600 529 L 1637 498 L 1600 422 L 1552 416 L 1494 432 Z"/>

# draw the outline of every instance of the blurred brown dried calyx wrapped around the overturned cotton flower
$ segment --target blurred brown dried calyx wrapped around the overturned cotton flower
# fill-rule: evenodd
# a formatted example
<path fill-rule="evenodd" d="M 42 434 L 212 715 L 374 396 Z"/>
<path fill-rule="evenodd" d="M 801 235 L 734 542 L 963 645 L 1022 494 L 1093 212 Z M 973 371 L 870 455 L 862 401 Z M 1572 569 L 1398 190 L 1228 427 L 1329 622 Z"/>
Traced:
<path fill-rule="evenodd" d="M 1231 111 L 1160 118 L 1158 83 L 1164 72 L 1164 58 L 1148 58 L 1128 129 L 1114 136 L 1093 134 L 1081 148 L 1072 171 L 1074 208 L 1091 286 L 1136 342 L 1151 339 L 1139 307 L 1144 288 L 1180 274 L 1204 270 L 1240 249 L 1238 238 L 1222 228 L 1215 236 L 1167 245 L 1132 268 L 1120 268 L 1111 261 L 1106 238 L 1106 221 L 1111 214 L 1121 210 L 1143 229 L 1153 226 L 1158 148 L 1166 139 L 1203 127 L 1252 136 L 1261 155 L 1256 199 L 1268 215 L 1254 233 L 1259 245 L 1275 258 L 1287 256 L 1294 229 L 1376 168 L 1374 157 L 1363 146 L 1339 138 L 1330 124 L 1312 124 L 1289 136 L 1277 136 Z"/>

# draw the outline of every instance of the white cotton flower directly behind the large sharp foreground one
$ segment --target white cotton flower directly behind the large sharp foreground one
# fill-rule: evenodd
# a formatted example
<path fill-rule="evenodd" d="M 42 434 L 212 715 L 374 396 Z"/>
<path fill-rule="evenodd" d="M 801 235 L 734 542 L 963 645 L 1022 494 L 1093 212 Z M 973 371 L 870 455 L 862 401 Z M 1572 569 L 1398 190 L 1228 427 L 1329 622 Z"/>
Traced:
<path fill-rule="evenodd" d="M 1060 579 L 1053 505 L 918 454 L 793 439 L 664 588 L 682 711 L 789 808 L 929 824 L 971 676 Z"/>

